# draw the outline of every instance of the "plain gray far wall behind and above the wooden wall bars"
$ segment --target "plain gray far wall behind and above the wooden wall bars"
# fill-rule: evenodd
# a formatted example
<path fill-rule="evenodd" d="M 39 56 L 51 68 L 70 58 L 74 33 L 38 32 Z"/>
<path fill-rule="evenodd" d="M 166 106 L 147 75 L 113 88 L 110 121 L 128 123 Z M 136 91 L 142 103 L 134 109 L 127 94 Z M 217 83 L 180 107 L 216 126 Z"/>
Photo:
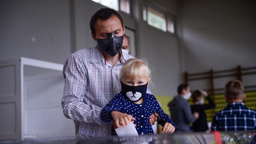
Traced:
<path fill-rule="evenodd" d="M 255 0 L 182 0 L 178 9 L 182 72 L 256 66 Z M 234 77 L 217 80 L 216 87 L 228 79 Z M 246 84 L 255 80 L 244 78 Z"/>

